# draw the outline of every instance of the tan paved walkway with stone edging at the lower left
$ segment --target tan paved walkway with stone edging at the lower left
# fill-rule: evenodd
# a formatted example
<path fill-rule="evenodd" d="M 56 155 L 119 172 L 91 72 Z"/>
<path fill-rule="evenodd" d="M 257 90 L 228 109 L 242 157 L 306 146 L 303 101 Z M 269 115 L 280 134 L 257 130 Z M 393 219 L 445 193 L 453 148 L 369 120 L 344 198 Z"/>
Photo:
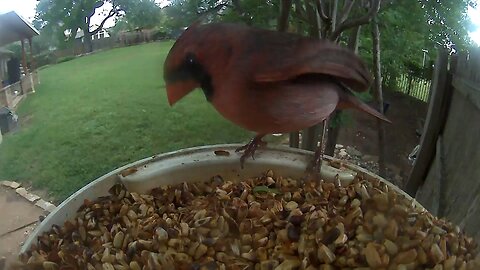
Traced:
<path fill-rule="evenodd" d="M 41 207 L 45 208 L 42 209 Z M 26 191 L 15 182 L 0 184 L 0 270 L 17 259 L 23 242 L 35 229 L 40 216 L 48 215 L 54 205 Z"/>

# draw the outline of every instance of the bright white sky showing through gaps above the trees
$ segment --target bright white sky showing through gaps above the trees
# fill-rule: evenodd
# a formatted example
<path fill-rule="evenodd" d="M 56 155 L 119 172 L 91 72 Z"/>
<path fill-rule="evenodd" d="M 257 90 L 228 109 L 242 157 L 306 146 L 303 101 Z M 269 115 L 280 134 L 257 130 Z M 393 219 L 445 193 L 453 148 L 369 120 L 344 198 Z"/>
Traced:
<path fill-rule="evenodd" d="M 156 2 L 165 4 L 168 0 L 157 0 Z M 480 46 L 480 0 L 477 0 L 477 8 L 469 8 L 468 15 L 476 26 L 476 30 L 470 33 L 470 37 Z M 28 21 L 32 21 L 35 16 L 35 6 L 37 0 L 0 0 L 0 14 L 14 10 L 20 16 Z M 101 10 L 97 9 L 95 16 L 92 18 L 94 25 L 100 24 L 102 21 Z M 115 24 L 113 18 L 105 23 L 105 27 L 110 27 Z"/>

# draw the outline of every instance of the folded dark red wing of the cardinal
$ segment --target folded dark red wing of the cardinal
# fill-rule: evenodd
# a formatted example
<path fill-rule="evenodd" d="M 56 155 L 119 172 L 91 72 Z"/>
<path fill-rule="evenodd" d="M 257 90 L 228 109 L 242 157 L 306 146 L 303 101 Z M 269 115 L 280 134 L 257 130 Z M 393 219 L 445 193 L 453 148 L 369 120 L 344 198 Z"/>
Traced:
<path fill-rule="evenodd" d="M 305 74 L 330 75 L 355 91 L 366 91 L 371 75 L 353 52 L 326 41 L 301 40 L 257 60 L 254 80 L 274 82 Z"/>

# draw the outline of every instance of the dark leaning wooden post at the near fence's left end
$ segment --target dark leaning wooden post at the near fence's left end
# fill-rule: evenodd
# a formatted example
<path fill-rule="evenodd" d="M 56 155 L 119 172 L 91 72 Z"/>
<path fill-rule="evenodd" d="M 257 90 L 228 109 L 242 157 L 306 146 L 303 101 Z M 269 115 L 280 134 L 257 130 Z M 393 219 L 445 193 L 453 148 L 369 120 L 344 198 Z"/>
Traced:
<path fill-rule="evenodd" d="M 448 53 L 442 50 L 437 57 L 420 149 L 405 186 L 405 191 L 412 197 L 415 197 L 418 188 L 424 182 L 434 158 L 438 135 L 445 124 L 452 95 L 451 81 L 451 73 L 448 72 Z"/>

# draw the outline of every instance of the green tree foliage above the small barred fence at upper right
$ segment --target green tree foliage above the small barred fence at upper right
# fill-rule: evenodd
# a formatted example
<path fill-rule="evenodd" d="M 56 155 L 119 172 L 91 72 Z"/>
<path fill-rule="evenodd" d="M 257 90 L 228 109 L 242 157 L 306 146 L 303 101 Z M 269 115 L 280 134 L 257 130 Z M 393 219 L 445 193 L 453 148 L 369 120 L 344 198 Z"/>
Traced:
<path fill-rule="evenodd" d="M 382 6 L 379 13 L 381 61 L 384 84 L 388 88 L 396 87 L 397 78 L 402 74 L 431 78 L 437 49 L 465 49 L 471 43 L 466 17 L 471 1 L 437 2 L 392 1 Z M 425 63 L 423 50 L 428 51 Z M 359 53 L 367 63 L 372 63 L 368 25 L 362 27 Z"/>

